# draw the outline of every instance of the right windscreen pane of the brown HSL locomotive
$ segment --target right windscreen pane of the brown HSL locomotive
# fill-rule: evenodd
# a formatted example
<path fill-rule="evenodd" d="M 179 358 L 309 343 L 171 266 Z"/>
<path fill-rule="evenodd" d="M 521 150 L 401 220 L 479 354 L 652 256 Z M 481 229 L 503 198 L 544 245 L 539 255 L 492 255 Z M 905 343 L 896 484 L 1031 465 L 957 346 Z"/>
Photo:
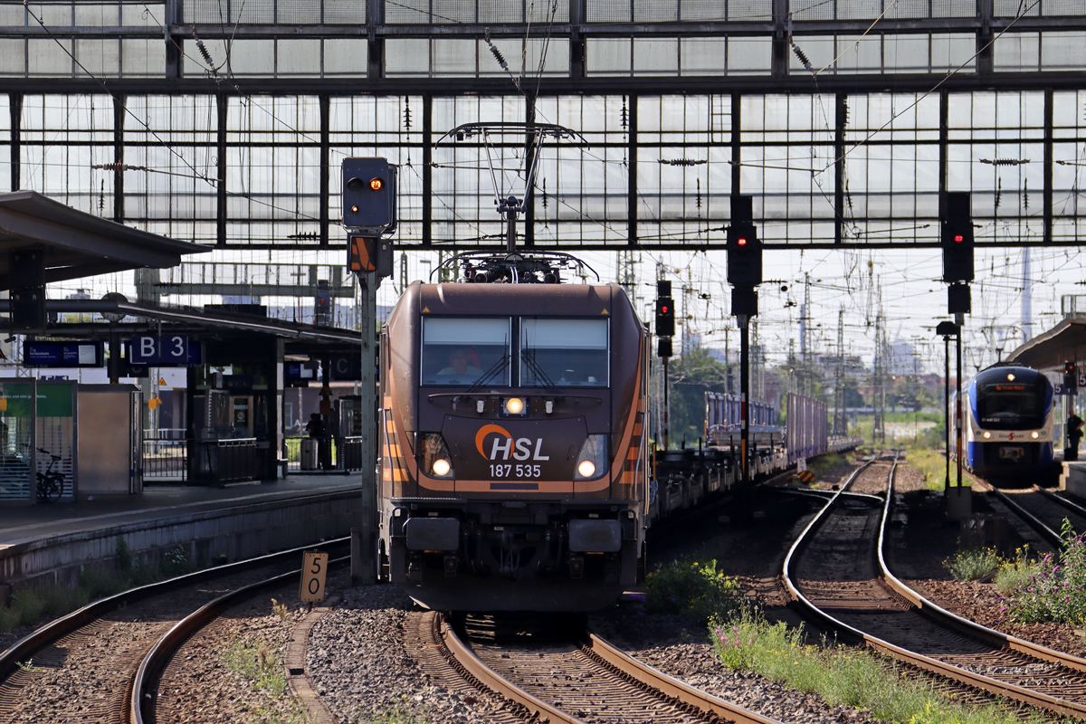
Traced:
<path fill-rule="evenodd" d="M 606 319 L 520 320 L 520 384 L 526 388 L 606 388 Z"/>

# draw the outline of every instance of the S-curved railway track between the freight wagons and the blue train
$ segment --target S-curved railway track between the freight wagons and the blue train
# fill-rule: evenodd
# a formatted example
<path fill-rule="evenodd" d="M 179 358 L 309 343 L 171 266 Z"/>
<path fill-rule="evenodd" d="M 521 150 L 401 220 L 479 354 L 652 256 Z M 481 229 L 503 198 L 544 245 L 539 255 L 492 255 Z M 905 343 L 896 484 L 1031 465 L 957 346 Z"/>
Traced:
<path fill-rule="evenodd" d="M 835 496 L 796 539 L 784 564 L 792 596 L 823 625 L 935 677 L 943 688 L 1086 715 L 1086 660 L 956 617 L 887 570 L 883 541 L 896 467 L 895 460 L 881 471 L 888 490 L 881 506 Z M 879 468 L 857 471 L 849 484 L 864 470 Z"/>

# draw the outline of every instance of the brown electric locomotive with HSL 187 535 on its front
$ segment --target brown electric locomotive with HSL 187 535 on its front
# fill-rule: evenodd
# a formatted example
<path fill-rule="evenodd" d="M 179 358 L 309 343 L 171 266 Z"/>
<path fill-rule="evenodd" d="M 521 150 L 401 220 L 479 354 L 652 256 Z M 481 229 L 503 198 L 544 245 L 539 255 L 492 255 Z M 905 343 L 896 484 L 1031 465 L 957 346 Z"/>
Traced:
<path fill-rule="evenodd" d="M 603 608 L 644 564 L 645 326 L 560 283 L 572 257 L 460 264 L 381 334 L 381 574 L 433 609 Z"/>

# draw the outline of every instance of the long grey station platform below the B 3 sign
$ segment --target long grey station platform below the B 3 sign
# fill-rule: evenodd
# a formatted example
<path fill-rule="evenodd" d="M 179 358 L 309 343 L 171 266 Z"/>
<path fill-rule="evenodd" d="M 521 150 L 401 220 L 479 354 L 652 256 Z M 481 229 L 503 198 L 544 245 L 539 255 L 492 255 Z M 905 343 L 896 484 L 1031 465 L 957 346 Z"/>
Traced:
<path fill-rule="evenodd" d="M 0 602 L 22 586 L 74 586 L 86 567 L 115 566 L 118 537 L 143 563 L 180 546 L 209 564 L 346 536 L 362 520 L 363 482 L 355 473 L 155 485 L 140 495 L 0 508 Z"/>

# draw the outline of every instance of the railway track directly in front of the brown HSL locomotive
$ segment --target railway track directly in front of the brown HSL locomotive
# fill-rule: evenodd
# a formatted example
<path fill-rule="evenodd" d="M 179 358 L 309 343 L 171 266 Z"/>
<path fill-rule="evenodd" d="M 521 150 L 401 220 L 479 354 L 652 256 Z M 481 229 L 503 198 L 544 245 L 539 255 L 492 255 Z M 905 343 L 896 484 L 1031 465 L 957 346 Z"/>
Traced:
<path fill-rule="evenodd" d="M 493 721 L 780 724 L 636 661 L 570 619 L 427 617 L 424 666 L 432 672 L 440 659 L 502 702 Z"/>

